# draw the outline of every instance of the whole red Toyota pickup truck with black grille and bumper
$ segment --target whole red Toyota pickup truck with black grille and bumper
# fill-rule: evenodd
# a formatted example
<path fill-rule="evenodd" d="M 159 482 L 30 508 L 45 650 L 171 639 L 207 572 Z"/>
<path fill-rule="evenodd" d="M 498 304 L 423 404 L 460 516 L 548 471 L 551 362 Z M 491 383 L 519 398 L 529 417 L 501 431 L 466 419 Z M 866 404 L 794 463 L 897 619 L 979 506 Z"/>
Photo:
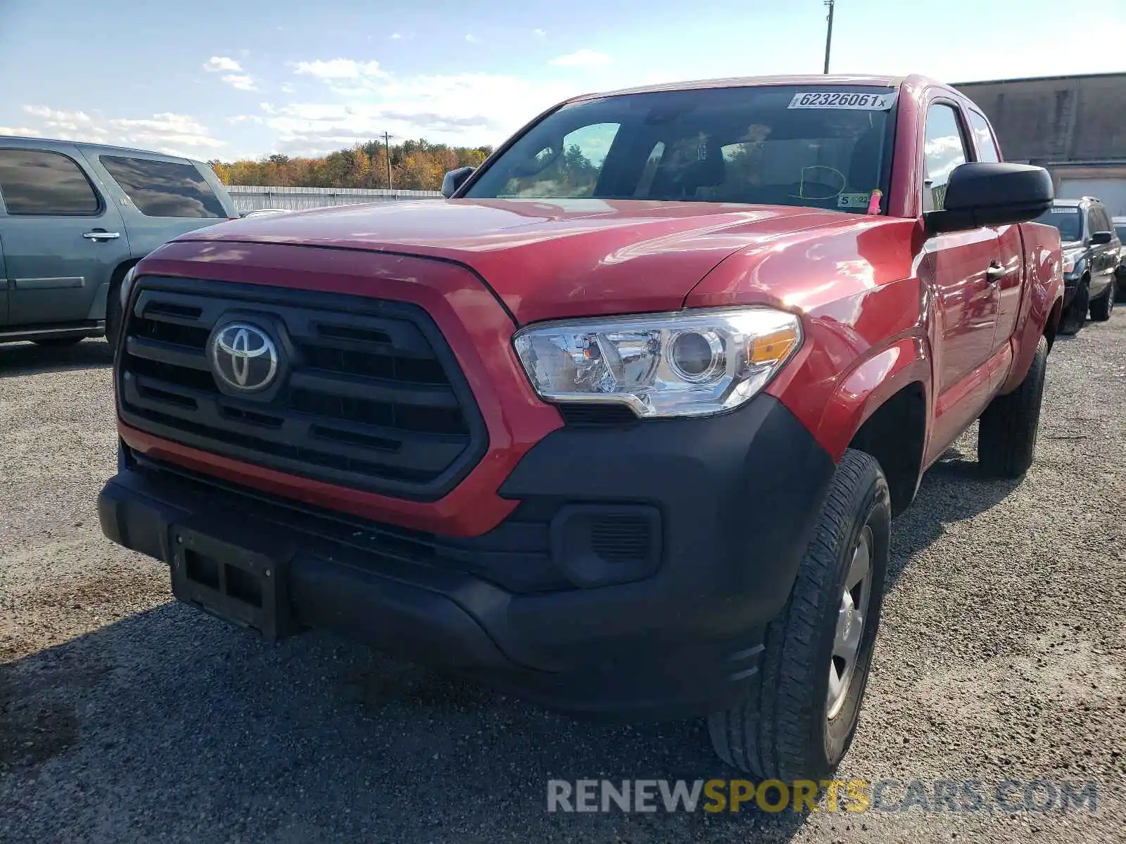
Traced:
<path fill-rule="evenodd" d="M 1033 460 L 1047 173 L 937 82 L 787 77 L 578 97 L 444 192 L 140 263 L 106 536 L 269 638 L 828 774 L 921 474 L 978 419 Z"/>

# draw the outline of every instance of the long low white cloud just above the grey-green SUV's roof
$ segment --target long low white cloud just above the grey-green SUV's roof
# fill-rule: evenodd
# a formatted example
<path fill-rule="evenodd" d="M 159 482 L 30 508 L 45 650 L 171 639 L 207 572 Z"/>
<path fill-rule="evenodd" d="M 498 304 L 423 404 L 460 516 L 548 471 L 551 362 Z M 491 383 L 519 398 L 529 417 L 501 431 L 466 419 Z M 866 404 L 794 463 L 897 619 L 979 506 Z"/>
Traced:
<path fill-rule="evenodd" d="M 38 118 L 38 126 L 19 134 L 138 146 L 193 158 L 200 158 L 206 151 L 224 145 L 194 117 L 170 111 L 144 118 L 107 118 L 86 111 L 61 111 L 47 106 L 24 106 L 24 111 Z"/>

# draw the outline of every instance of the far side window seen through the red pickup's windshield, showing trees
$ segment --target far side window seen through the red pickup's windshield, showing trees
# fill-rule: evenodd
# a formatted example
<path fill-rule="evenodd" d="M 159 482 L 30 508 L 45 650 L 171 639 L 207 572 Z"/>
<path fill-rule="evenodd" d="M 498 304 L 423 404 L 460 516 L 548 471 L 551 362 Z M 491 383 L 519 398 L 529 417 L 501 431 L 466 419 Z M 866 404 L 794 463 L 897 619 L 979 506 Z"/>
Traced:
<path fill-rule="evenodd" d="M 499 196 L 593 196 L 606 154 L 619 127 L 617 123 L 596 123 L 568 133 L 562 141 L 545 146 L 530 161 L 513 167 L 510 171 L 512 176 Z"/>

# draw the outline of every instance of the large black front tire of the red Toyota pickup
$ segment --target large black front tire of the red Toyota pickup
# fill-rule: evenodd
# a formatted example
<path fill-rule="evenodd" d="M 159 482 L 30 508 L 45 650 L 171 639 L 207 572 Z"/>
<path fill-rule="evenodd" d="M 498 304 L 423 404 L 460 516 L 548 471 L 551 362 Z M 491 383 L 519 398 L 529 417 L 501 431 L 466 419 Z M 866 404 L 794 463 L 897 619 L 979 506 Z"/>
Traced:
<path fill-rule="evenodd" d="M 863 451 L 846 451 L 789 599 L 767 627 L 750 697 L 708 718 L 712 745 L 729 765 L 761 779 L 821 780 L 844 756 L 856 734 L 879 626 L 891 521 L 879 464 Z M 856 656 L 830 717 L 844 586 L 861 542 L 870 563 L 867 608 L 859 631 L 844 637 L 857 643 Z M 849 600 L 861 608 L 864 582 L 856 589 L 861 594 Z"/>

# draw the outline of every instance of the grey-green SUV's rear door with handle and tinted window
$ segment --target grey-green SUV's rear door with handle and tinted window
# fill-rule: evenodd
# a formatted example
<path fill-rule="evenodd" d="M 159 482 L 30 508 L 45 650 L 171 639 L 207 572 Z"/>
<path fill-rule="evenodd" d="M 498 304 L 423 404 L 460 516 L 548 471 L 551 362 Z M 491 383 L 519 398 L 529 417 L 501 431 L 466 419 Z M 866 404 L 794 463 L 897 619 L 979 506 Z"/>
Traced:
<path fill-rule="evenodd" d="M 8 325 L 105 316 L 114 271 L 128 259 L 122 215 L 79 164 L 77 147 L 0 146 L 0 242 Z"/>

